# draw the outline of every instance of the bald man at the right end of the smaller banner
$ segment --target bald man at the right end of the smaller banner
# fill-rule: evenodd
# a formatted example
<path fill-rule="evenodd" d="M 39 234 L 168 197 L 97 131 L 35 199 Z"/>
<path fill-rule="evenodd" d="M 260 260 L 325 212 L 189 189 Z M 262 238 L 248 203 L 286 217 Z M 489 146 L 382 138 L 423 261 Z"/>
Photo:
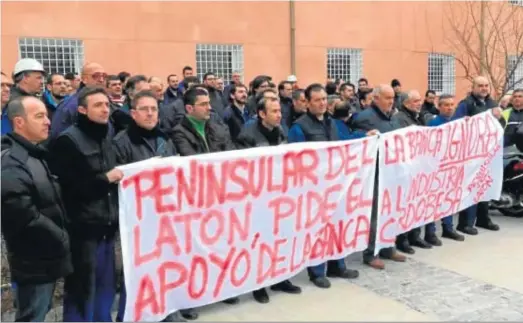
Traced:
<path fill-rule="evenodd" d="M 472 117 L 488 110 L 492 111 L 503 126 L 505 125 L 505 119 L 501 115 L 502 109 L 490 97 L 489 80 L 484 76 L 477 76 L 472 81 L 471 93 L 459 103 L 453 120 Z M 492 222 L 488 210 L 488 202 L 481 202 L 459 212 L 457 229 L 466 234 L 476 235 L 478 230 L 474 228 L 475 224 L 476 227 L 498 231 L 499 226 Z"/>

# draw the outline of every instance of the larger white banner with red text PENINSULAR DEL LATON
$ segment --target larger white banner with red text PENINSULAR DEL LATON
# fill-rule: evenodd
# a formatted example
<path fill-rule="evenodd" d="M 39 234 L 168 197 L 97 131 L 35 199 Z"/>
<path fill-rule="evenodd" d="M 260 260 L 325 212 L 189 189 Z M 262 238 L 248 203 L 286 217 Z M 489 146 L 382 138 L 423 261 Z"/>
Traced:
<path fill-rule="evenodd" d="M 378 140 L 122 166 L 125 321 L 244 294 L 367 248 Z"/>

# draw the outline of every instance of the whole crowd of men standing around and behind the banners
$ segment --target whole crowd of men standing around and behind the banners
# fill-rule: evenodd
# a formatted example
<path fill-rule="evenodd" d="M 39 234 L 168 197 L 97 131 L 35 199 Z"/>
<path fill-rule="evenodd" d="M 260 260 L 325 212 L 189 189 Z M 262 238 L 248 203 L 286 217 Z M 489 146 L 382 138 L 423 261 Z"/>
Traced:
<path fill-rule="evenodd" d="M 45 90 L 42 92 L 45 80 Z M 457 104 L 453 95 L 402 91 L 401 83 L 357 87 L 328 80 L 301 88 L 291 75 L 274 83 L 255 77 L 249 85 L 234 73 L 230 84 L 213 72 L 200 80 L 190 66 L 180 76 L 107 75 L 97 63 L 81 75 L 46 74 L 34 59 L 22 59 L 12 78 L 2 73 L 2 235 L 16 294 L 16 319 L 42 321 L 58 279 L 65 278 L 64 321 L 111 321 L 116 294 L 119 165 L 152 157 L 190 156 L 293 142 L 351 140 L 411 125 L 438 126 L 491 110 L 506 127 L 505 144 L 523 151 L 523 90 L 514 90 L 502 110 L 485 77 L 474 79 Z M 375 181 L 377 181 L 377 176 Z M 377 189 L 377 185 L 375 185 Z M 377 192 L 375 191 L 375 196 Z M 374 198 L 377 203 L 377 198 Z M 397 237 L 396 248 L 374 253 L 377 207 L 373 205 L 369 248 L 363 262 L 384 269 L 384 260 L 404 262 L 416 248 L 441 246 L 435 223 Z M 499 230 L 479 203 L 442 220 L 442 237 L 464 241 L 477 227 Z M 458 233 L 460 232 L 460 233 Z M 401 251 L 402 253 L 398 252 Z M 308 268 L 312 284 L 357 278 L 344 259 Z M 299 294 L 290 280 L 273 291 Z M 117 320 L 123 319 L 125 288 Z M 253 292 L 269 302 L 265 288 Z M 238 298 L 224 301 L 235 304 Z M 196 309 L 166 321 L 194 320 Z"/>

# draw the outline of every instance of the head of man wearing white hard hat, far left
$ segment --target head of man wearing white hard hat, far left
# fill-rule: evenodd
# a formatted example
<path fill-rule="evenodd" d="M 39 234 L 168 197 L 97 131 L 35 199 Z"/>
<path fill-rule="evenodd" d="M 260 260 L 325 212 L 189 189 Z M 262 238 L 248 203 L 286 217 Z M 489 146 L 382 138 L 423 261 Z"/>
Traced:
<path fill-rule="evenodd" d="M 21 96 L 37 96 L 42 91 L 45 70 L 33 58 L 22 58 L 15 64 L 11 100 Z"/>

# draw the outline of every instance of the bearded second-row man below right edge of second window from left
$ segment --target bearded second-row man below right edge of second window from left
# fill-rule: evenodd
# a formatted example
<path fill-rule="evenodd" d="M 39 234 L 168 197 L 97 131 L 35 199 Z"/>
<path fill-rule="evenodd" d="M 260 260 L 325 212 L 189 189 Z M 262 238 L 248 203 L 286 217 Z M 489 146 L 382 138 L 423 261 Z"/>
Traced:
<path fill-rule="evenodd" d="M 246 109 L 247 87 L 245 85 L 233 84 L 229 93 L 231 104 L 225 109 L 223 121 L 229 127 L 231 139 L 235 141 L 243 126 L 249 122 L 254 115 Z"/>

